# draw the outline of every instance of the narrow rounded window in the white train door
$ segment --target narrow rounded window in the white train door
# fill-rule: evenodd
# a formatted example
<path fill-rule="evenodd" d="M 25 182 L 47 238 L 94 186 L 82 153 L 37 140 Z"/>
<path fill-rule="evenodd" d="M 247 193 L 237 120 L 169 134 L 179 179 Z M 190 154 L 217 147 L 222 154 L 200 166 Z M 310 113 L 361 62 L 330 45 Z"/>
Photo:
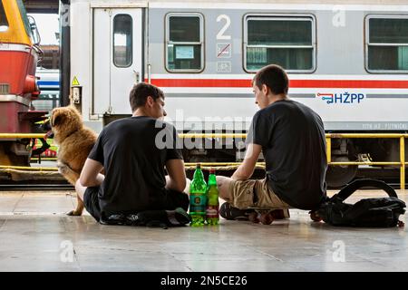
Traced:
<path fill-rule="evenodd" d="M 117 67 L 131 66 L 133 37 L 131 15 L 117 14 L 113 18 L 113 63 Z"/>

